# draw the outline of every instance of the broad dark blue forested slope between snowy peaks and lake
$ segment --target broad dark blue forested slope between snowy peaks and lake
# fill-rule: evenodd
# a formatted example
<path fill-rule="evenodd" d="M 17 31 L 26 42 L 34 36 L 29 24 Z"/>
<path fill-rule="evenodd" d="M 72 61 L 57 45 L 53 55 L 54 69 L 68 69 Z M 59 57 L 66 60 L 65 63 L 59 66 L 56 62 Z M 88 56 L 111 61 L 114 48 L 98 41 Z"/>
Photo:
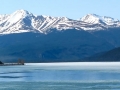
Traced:
<path fill-rule="evenodd" d="M 21 33 L 0 36 L 0 60 L 4 62 L 19 58 L 26 62 L 79 61 L 80 58 L 112 48 L 114 46 L 105 40 L 84 30 L 56 31 L 48 35 Z"/>

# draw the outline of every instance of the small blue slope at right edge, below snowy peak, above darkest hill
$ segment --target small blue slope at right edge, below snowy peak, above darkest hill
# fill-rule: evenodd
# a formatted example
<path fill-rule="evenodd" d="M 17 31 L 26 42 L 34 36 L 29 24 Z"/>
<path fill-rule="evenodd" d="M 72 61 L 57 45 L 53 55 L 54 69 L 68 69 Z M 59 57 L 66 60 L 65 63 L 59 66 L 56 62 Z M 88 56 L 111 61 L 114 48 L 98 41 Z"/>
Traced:
<path fill-rule="evenodd" d="M 120 47 L 120 28 L 111 28 L 89 32 L 98 38 L 108 41 L 115 47 Z"/>

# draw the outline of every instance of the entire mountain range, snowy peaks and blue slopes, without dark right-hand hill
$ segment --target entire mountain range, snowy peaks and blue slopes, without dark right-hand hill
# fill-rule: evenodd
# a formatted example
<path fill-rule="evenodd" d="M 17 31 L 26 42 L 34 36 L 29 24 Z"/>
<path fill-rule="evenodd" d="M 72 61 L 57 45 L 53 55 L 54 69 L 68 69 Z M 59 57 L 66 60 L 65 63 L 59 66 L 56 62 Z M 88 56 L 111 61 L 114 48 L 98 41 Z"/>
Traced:
<path fill-rule="evenodd" d="M 120 46 L 120 21 L 87 14 L 79 20 L 17 10 L 0 15 L 0 59 L 26 62 L 82 61 Z"/>

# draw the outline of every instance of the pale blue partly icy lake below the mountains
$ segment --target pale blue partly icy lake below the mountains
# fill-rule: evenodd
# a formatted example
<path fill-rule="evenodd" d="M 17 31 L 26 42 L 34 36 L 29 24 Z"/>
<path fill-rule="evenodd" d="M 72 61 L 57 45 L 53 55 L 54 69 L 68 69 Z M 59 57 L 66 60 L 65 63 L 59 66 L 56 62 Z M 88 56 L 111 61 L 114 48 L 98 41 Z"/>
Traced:
<path fill-rule="evenodd" d="M 120 62 L 0 66 L 0 90 L 120 90 Z"/>

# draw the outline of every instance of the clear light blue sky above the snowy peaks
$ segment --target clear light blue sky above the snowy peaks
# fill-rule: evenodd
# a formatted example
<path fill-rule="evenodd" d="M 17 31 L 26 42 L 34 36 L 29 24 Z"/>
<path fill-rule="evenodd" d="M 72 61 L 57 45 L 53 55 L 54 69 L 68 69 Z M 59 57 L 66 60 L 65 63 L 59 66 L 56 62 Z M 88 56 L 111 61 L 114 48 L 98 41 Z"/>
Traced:
<path fill-rule="evenodd" d="M 82 18 L 86 14 L 120 20 L 120 0 L 0 0 L 0 14 L 24 9 L 35 15 Z"/>

